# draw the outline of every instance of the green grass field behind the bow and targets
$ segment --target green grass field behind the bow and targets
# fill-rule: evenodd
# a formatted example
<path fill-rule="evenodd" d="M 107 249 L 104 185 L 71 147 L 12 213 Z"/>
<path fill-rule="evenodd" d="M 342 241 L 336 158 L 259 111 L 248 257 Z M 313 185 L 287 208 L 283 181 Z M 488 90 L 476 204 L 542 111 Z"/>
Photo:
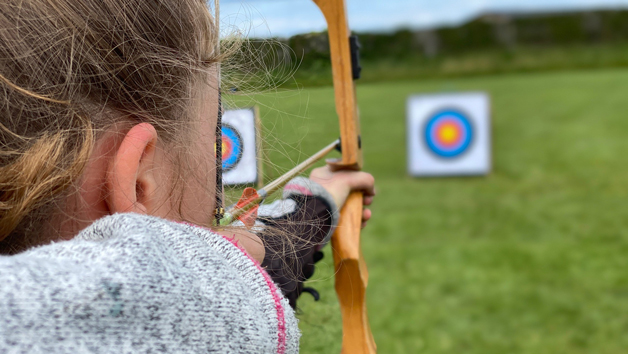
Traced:
<path fill-rule="evenodd" d="M 491 95 L 493 172 L 411 178 L 406 98 L 448 90 Z M 626 352 L 628 70 L 372 83 L 358 100 L 378 188 L 362 237 L 380 353 Z M 338 136 L 329 87 L 254 101 L 268 179 Z M 322 300 L 300 301 L 303 353 L 340 350 L 326 256 L 309 284 Z"/>

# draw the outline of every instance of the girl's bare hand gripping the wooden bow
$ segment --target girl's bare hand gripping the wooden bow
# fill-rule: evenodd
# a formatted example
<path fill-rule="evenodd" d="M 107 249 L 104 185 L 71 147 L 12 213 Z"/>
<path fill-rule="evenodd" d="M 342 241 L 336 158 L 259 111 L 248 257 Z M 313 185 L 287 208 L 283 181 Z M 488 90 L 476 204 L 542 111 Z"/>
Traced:
<path fill-rule="evenodd" d="M 375 178 L 370 173 L 346 170 L 333 172 L 327 165 L 312 170 L 310 180 L 323 186 L 334 198 L 338 208 L 342 208 L 349 194 L 355 191 L 364 193 L 363 204 L 365 206 L 373 203 Z M 371 216 L 370 209 L 365 208 L 362 211 L 362 227 L 366 226 Z"/>

